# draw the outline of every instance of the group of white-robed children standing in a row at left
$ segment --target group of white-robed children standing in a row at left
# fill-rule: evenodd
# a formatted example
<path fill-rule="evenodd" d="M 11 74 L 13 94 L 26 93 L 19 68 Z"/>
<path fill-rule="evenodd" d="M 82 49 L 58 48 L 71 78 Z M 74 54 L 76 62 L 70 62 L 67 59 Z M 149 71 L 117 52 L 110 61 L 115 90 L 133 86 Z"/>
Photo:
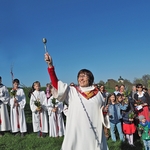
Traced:
<path fill-rule="evenodd" d="M 4 131 L 11 131 L 15 136 L 24 137 L 27 132 L 24 112 L 26 96 L 19 84 L 20 81 L 14 79 L 13 88 L 9 92 L 2 84 L 2 77 L 0 77 L 0 136 L 4 135 Z M 35 81 L 29 97 L 33 132 L 37 132 L 37 137 L 45 137 L 48 131 L 50 137 L 63 136 L 65 132 L 62 116 L 63 103 L 53 98 L 51 85 L 47 85 L 46 91 L 41 91 L 40 82 Z M 55 106 L 53 100 L 56 101 Z M 7 104 L 10 106 L 10 117 Z"/>

